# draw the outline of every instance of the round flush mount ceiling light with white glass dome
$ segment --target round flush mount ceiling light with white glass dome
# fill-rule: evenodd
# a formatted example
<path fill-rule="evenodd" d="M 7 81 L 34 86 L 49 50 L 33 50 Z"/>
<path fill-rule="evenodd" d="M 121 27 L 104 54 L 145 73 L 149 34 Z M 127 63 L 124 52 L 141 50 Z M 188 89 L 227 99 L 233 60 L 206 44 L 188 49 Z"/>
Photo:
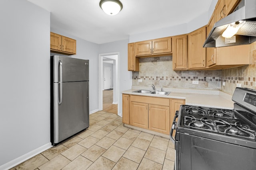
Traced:
<path fill-rule="evenodd" d="M 123 8 L 119 0 L 100 0 L 100 8 L 108 15 L 114 16 Z"/>

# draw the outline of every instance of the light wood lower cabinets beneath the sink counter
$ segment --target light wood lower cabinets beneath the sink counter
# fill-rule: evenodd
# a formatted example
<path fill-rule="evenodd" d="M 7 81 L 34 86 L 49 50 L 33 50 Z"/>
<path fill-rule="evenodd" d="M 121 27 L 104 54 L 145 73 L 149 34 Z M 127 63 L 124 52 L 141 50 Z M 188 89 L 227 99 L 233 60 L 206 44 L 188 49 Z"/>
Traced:
<path fill-rule="evenodd" d="M 123 123 L 169 134 L 175 115 L 185 100 L 122 94 Z M 129 100 L 129 102 L 128 102 Z"/>

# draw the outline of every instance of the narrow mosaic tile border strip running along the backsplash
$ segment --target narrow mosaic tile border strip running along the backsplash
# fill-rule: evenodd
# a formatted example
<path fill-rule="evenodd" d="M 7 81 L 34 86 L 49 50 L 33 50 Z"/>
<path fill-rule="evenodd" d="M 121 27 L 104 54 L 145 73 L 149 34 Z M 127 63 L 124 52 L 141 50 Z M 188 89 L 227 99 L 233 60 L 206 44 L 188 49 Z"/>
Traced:
<path fill-rule="evenodd" d="M 256 77 L 208 77 L 208 76 L 132 76 L 133 80 L 170 80 L 170 81 L 210 81 L 240 83 L 246 86 L 256 86 Z"/>

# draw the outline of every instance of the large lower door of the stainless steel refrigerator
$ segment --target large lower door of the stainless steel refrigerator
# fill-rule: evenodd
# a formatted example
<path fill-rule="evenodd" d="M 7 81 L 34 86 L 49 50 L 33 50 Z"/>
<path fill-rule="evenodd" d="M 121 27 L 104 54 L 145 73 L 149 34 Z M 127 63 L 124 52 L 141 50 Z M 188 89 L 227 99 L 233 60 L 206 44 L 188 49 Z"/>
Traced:
<path fill-rule="evenodd" d="M 54 143 L 89 127 L 89 82 L 54 83 Z"/>

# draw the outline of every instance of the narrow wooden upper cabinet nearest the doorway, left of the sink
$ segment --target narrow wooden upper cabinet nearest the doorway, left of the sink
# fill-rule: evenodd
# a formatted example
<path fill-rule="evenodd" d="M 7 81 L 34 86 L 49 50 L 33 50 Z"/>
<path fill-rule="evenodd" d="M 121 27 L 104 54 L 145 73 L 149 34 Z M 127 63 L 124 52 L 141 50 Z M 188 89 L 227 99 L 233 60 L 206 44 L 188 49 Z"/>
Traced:
<path fill-rule="evenodd" d="M 134 43 L 128 44 L 128 70 L 139 71 L 139 58 L 134 55 Z"/>

